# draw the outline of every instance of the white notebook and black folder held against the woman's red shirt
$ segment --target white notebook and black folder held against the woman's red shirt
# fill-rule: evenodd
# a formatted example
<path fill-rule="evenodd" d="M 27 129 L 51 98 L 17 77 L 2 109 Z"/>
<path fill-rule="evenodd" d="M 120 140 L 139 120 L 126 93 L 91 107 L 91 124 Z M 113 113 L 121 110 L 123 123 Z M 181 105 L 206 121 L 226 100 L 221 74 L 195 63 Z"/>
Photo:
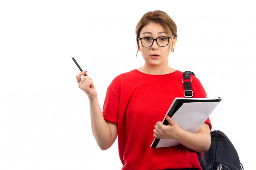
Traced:
<path fill-rule="evenodd" d="M 166 115 L 171 117 L 183 130 L 197 132 L 220 103 L 220 97 L 214 98 L 178 98 L 173 100 Z M 166 115 L 163 124 L 167 125 Z M 151 148 L 171 147 L 178 145 L 175 139 L 157 139 Z"/>

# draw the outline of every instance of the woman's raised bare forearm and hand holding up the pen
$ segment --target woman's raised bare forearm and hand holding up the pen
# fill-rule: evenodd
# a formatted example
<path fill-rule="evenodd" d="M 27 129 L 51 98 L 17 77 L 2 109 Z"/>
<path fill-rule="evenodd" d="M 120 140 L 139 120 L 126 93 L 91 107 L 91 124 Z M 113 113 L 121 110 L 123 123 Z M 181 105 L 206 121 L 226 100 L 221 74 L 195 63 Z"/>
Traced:
<path fill-rule="evenodd" d="M 112 146 L 112 144 L 117 139 L 117 125 L 109 121 L 105 121 L 102 115 L 101 108 L 99 106 L 99 101 L 97 98 L 97 92 L 93 85 L 92 79 L 84 75 L 86 72 L 81 72 L 76 75 L 76 80 L 79 88 L 88 95 L 90 104 L 90 115 L 91 115 L 91 125 L 92 133 L 97 141 L 98 146 L 101 150 L 106 150 Z"/>

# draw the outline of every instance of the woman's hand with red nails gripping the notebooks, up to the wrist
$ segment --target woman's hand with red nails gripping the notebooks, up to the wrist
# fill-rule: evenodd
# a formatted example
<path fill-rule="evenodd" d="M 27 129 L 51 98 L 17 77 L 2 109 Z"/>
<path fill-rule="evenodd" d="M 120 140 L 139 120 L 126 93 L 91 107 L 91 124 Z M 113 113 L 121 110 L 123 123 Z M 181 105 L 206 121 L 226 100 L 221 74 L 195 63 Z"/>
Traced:
<path fill-rule="evenodd" d="M 168 115 L 166 115 L 166 120 L 169 122 L 168 125 L 164 125 L 162 121 L 157 121 L 153 130 L 154 137 L 158 139 L 176 139 L 181 130 L 180 126 Z"/>

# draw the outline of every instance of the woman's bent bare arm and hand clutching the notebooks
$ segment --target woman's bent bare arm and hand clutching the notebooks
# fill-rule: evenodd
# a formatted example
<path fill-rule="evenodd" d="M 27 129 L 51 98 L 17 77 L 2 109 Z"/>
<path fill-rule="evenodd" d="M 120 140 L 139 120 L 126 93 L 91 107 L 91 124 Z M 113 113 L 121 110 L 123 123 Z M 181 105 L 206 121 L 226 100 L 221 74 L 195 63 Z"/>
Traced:
<path fill-rule="evenodd" d="M 170 117 L 166 117 L 168 125 L 158 121 L 155 125 L 154 137 L 161 139 L 175 139 L 180 144 L 196 152 L 207 151 L 211 146 L 211 135 L 208 124 L 203 124 L 198 132 L 187 132 L 179 127 Z"/>

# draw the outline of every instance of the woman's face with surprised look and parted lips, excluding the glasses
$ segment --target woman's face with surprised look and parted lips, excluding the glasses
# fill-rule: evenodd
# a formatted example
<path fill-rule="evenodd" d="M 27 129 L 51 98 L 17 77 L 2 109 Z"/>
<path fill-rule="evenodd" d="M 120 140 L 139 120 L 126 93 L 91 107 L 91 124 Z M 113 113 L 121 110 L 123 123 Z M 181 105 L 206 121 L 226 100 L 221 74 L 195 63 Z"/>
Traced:
<path fill-rule="evenodd" d="M 155 22 L 150 22 L 146 26 L 144 26 L 141 29 L 141 32 L 139 34 L 139 38 L 158 38 L 158 37 L 170 37 L 171 35 L 168 35 L 168 33 L 164 30 L 164 28 Z M 147 39 L 150 40 L 150 39 Z M 164 39 L 159 39 L 159 42 Z M 167 40 L 168 45 L 167 46 L 159 46 L 156 41 L 153 42 L 152 46 L 150 47 L 144 47 L 141 44 L 141 40 L 139 40 L 139 51 L 141 51 L 141 54 L 145 60 L 145 64 L 150 64 L 151 66 L 160 66 L 162 64 L 168 64 L 168 55 L 171 52 L 171 39 Z M 174 44 L 176 42 L 176 39 L 173 39 Z M 142 42 L 143 43 L 143 42 Z"/>

